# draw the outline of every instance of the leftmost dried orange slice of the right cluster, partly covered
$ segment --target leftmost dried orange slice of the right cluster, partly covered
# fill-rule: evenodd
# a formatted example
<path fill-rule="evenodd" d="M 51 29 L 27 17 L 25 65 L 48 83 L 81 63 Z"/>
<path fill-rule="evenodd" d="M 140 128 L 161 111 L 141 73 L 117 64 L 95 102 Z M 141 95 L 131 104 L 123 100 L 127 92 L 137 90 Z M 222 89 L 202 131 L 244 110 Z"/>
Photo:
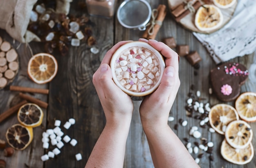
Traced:
<path fill-rule="evenodd" d="M 222 135 L 224 135 L 227 125 L 234 120 L 239 120 L 239 116 L 231 105 L 218 104 L 213 106 L 209 112 L 211 127 Z"/>

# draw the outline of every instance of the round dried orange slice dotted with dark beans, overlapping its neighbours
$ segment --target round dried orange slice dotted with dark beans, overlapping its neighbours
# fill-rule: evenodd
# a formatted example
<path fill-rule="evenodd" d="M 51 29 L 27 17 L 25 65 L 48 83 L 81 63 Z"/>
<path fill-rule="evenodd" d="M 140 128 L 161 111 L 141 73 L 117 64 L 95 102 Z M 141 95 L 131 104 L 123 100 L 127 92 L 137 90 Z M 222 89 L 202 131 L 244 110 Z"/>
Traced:
<path fill-rule="evenodd" d="M 228 124 L 225 138 L 233 148 L 242 149 L 252 142 L 252 134 L 251 126 L 243 120 L 238 120 Z"/>

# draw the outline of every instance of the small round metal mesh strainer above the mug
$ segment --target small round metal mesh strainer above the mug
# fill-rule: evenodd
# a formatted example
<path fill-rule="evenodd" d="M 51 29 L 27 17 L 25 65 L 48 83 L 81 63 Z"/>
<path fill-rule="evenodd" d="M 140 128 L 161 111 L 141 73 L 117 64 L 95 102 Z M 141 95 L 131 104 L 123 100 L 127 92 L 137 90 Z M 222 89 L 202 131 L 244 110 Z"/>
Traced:
<path fill-rule="evenodd" d="M 117 10 L 117 19 L 126 28 L 139 28 L 143 31 L 151 13 L 151 7 L 146 0 L 125 0 Z"/>

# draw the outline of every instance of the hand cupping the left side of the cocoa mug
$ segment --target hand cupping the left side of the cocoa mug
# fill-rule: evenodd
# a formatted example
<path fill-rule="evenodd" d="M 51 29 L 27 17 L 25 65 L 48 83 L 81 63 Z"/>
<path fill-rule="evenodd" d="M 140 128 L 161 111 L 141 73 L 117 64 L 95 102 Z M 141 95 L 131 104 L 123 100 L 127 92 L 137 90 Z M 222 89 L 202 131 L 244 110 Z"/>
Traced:
<path fill-rule="evenodd" d="M 115 126 L 124 124 L 124 121 L 131 121 L 133 103 L 126 93 L 124 93 L 112 80 L 110 60 L 114 52 L 120 46 L 130 41 L 120 41 L 106 53 L 99 69 L 94 73 L 92 82 L 96 88 L 101 105 L 106 115 L 107 124 Z"/>

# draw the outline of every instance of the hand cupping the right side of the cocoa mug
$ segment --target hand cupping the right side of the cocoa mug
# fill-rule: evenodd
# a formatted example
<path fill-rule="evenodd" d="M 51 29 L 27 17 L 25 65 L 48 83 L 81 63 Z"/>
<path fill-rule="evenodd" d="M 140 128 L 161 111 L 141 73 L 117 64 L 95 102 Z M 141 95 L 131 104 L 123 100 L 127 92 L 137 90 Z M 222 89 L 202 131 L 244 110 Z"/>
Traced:
<path fill-rule="evenodd" d="M 162 42 L 139 39 L 148 42 L 164 57 L 166 68 L 159 87 L 142 101 L 139 112 L 144 127 L 166 127 L 168 116 L 180 87 L 179 56 Z"/>

